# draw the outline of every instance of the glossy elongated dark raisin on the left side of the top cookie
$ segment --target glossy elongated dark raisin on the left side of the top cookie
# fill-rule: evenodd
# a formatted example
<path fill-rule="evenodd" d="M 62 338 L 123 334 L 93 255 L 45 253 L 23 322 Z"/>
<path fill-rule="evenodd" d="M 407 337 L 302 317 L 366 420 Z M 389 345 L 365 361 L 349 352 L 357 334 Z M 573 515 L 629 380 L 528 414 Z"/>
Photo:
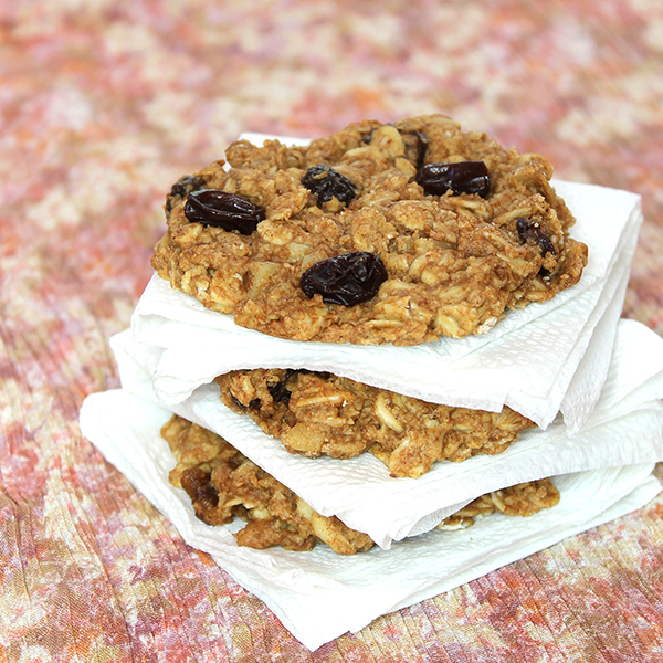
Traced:
<path fill-rule="evenodd" d="M 191 223 L 251 234 L 265 218 L 265 209 L 235 193 L 219 189 L 200 189 L 187 197 L 185 217 Z"/>

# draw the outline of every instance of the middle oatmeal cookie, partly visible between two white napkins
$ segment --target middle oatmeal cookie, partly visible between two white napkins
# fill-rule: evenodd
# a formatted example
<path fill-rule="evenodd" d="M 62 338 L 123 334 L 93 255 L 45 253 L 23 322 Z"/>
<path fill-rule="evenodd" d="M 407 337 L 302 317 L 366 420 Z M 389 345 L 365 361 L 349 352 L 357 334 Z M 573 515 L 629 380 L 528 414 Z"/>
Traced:
<path fill-rule="evenodd" d="M 291 453 L 351 459 L 370 452 L 392 476 L 415 478 L 435 461 L 502 453 L 534 427 L 506 406 L 502 412 L 440 406 L 328 372 L 259 368 L 215 382 L 225 406 Z"/>

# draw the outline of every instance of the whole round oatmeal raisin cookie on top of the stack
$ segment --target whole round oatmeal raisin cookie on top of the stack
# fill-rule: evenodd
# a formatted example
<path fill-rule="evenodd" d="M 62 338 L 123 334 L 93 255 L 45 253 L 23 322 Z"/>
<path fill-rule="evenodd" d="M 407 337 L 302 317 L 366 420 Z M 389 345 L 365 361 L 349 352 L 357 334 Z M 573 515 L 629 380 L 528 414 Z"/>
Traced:
<path fill-rule="evenodd" d="M 430 115 L 306 147 L 246 140 L 176 182 L 151 264 L 238 325 L 415 345 L 490 329 L 573 285 L 587 246 L 538 155 Z"/>

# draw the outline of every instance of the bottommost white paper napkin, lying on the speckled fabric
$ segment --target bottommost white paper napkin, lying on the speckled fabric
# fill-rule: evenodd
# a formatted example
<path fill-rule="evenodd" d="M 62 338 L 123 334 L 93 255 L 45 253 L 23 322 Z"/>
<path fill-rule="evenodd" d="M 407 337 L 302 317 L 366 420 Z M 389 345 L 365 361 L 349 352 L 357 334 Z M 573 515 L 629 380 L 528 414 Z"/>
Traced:
<path fill-rule="evenodd" d="M 652 465 L 597 470 L 557 477 L 560 503 L 529 518 L 494 514 L 466 530 L 433 530 L 389 551 L 344 557 L 324 545 L 311 552 L 253 550 L 236 546 L 232 526 L 198 520 L 185 492 L 168 483 L 175 461 L 159 429 L 169 415 L 114 390 L 85 400 L 81 428 L 190 546 L 212 555 L 311 650 L 639 508 L 661 488 Z"/>

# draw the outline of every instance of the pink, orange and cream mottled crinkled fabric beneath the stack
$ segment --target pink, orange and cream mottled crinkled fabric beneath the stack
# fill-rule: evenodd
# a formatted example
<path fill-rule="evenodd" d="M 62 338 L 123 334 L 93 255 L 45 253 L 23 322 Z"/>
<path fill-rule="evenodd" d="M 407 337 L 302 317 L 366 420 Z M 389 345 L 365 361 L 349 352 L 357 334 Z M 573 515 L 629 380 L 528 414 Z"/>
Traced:
<path fill-rule="evenodd" d="M 444 112 L 636 191 L 663 333 L 657 0 L 0 0 L 0 663 L 663 661 L 663 496 L 312 653 L 82 438 L 166 191 L 241 130 Z"/>

